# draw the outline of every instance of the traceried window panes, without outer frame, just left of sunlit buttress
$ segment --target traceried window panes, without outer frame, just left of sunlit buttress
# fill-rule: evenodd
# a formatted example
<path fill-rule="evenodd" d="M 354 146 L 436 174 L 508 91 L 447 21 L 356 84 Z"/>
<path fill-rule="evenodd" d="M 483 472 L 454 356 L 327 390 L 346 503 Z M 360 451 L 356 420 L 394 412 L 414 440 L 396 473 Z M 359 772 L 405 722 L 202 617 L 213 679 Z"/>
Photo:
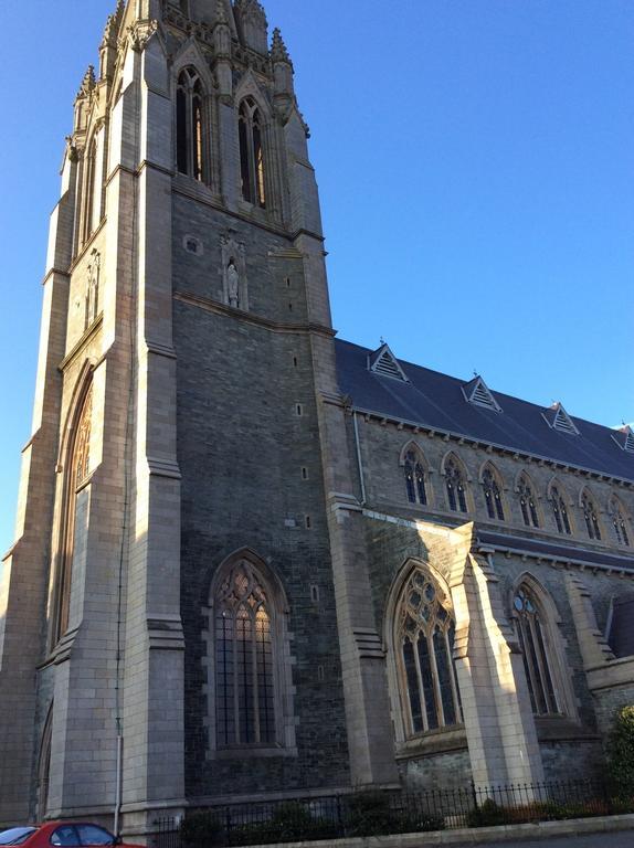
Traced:
<path fill-rule="evenodd" d="M 455 622 L 441 590 L 416 569 L 397 612 L 397 661 L 409 735 L 462 722 L 453 659 Z"/>

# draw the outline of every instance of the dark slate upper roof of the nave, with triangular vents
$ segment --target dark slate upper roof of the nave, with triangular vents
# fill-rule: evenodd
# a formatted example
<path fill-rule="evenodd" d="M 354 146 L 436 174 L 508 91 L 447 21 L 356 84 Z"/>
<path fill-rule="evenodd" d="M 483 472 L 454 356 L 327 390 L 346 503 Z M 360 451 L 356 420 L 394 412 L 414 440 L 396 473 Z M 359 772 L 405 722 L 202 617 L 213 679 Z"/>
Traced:
<path fill-rule="evenodd" d="M 503 412 L 487 410 L 465 400 L 464 380 L 399 360 L 401 382 L 368 369 L 368 348 L 335 343 L 339 388 L 357 410 L 634 481 L 634 454 L 610 427 L 570 416 L 580 435 L 562 433 L 548 425 L 547 407 L 492 390 Z"/>

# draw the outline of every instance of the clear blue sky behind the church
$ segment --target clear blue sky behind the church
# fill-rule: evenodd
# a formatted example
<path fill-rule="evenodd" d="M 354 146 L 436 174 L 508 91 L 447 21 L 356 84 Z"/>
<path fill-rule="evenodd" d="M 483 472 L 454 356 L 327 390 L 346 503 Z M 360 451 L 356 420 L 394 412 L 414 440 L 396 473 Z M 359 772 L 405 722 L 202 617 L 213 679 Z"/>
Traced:
<path fill-rule="evenodd" d="M 212 0 L 209 0 L 210 2 Z M 47 215 L 115 0 L 6 0 L 0 547 L 30 435 Z M 634 2 L 265 0 L 313 130 L 335 326 L 634 421 Z"/>

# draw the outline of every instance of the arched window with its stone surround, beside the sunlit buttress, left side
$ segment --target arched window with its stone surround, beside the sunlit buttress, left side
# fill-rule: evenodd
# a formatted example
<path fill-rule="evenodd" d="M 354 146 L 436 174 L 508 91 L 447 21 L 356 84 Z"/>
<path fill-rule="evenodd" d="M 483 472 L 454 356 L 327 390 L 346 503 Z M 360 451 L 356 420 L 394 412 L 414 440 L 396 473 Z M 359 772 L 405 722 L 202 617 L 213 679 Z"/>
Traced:
<path fill-rule="evenodd" d="M 462 724 L 455 627 L 444 577 L 426 562 L 408 560 L 392 584 L 383 629 L 398 743 Z"/>

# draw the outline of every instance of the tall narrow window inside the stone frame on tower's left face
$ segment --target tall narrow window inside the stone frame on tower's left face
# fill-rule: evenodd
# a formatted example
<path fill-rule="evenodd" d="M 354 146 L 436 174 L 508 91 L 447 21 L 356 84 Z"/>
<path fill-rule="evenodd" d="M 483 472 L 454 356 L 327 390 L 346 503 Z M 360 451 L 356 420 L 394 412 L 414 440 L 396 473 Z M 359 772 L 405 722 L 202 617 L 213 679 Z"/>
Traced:
<path fill-rule="evenodd" d="M 67 454 L 64 522 L 61 537 L 57 596 L 54 618 L 54 642 L 57 643 L 68 628 L 71 579 L 75 548 L 75 518 L 77 490 L 85 483 L 91 469 L 91 428 L 93 417 L 93 388 L 87 390 Z"/>

